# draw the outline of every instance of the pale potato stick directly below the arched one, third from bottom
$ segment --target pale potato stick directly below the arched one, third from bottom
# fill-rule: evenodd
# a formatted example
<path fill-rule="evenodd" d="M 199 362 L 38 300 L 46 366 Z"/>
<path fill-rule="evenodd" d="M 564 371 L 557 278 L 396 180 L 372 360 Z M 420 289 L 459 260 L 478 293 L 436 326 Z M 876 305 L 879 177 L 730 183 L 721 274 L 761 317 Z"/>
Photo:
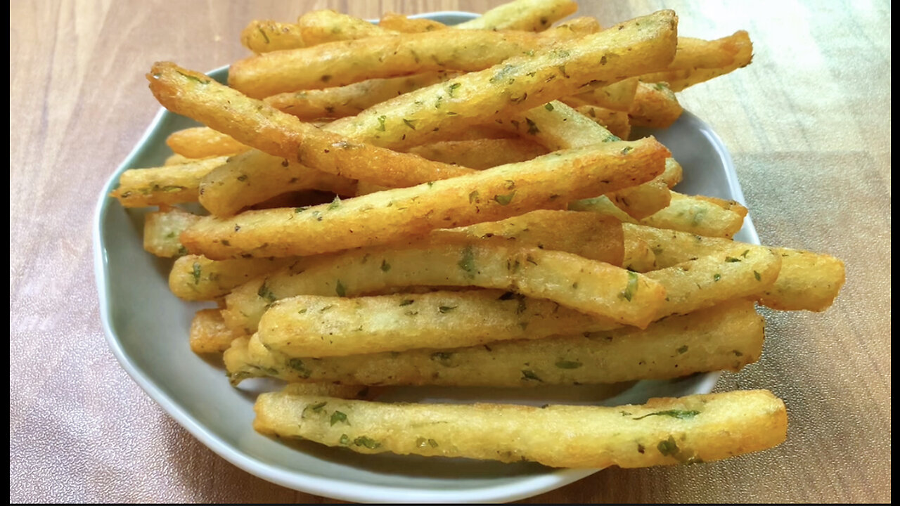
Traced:
<path fill-rule="evenodd" d="M 327 309 L 326 309 L 327 308 Z M 224 325 L 224 322 L 222 322 Z M 264 346 L 291 357 L 460 348 L 621 327 L 545 299 L 512 292 L 432 292 L 373 297 L 301 295 L 259 321 Z"/>

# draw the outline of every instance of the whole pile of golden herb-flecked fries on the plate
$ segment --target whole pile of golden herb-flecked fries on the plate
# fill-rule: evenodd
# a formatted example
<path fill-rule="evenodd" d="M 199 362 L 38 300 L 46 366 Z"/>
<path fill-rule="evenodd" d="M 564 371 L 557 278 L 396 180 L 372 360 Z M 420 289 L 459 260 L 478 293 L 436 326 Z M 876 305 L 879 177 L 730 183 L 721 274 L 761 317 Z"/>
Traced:
<path fill-rule="evenodd" d="M 750 63 L 746 32 L 661 11 L 601 29 L 571 0 L 446 26 L 333 11 L 254 21 L 229 86 L 161 62 L 150 89 L 207 125 L 112 196 L 197 313 L 232 384 L 290 384 L 256 428 L 356 452 L 558 467 L 712 461 L 778 445 L 765 391 L 544 408 L 373 402 L 368 386 L 611 384 L 738 371 L 756 304 L 823 311 L 843 264 L 735 242 L 739 203 L 679 194 L 673 92 Z M 554 24 L 556 23 L 556 24 Z M 185 211 L 200 203 L 209 215 Z"/>

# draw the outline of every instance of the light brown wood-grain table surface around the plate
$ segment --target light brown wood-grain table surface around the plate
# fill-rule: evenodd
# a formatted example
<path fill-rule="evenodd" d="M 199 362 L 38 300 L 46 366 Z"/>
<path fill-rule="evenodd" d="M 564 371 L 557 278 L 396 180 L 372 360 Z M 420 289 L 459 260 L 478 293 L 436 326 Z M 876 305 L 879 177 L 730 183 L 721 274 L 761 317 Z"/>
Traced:
<path fill-rule="evenodd" d="M 247 55 L 254 18 L 332 7 L 482 11 L 494 0 L 15 0 L 10 6 L 11 501 L 323 501 L 229 465 L 141 392 L 103 341 L 90 221 L 158 105 L 155 60 Z M 749 68 L 682 104 L 731 149 L 764 243 L 831 253 L 847 284 L 824 313 L 769 312 L 759 364 L 718 389 L 768 388 L 788 442 L 709 465 L 609 469 L 545 502 L 891 500 L 890 4 L 581 2 L 612 23 L 672 8 L 680 33 L 751 33 Z"/>

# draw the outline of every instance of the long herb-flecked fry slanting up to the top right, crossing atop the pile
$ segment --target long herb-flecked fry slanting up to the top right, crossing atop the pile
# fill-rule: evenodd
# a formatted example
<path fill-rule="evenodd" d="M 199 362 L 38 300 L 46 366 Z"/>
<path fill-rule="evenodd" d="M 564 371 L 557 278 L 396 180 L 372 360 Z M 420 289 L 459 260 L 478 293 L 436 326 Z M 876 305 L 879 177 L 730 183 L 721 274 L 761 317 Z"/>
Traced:
<path fill-rule="evenodd" d="M 676 25 L 674 13 L 661 11 L 576 41 L 557 41 L 493 68 L 401 95 L 332 122 L 328 129 L 379 146 L 409 148 L 436 129 L 464 131 L 493 122 L 497 111 L 524 112 L 591 83 L 605 86 L 643 73 L 643 68 L 665 67 L 674 54 Z"/>

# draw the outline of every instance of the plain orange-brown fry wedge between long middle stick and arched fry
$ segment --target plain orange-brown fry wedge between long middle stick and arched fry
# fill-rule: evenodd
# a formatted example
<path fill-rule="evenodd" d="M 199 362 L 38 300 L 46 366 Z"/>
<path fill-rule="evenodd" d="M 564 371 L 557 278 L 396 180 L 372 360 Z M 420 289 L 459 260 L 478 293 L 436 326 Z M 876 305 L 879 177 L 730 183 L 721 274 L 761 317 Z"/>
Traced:
<path fill-rule="evenodd" d="M 434 230 L 433 239 L 506 239 L 508 244 L 573 253 L 621 266 L 625 256 L 622 223 L 589 212 L 532 211 L 501 221 Z"/>

